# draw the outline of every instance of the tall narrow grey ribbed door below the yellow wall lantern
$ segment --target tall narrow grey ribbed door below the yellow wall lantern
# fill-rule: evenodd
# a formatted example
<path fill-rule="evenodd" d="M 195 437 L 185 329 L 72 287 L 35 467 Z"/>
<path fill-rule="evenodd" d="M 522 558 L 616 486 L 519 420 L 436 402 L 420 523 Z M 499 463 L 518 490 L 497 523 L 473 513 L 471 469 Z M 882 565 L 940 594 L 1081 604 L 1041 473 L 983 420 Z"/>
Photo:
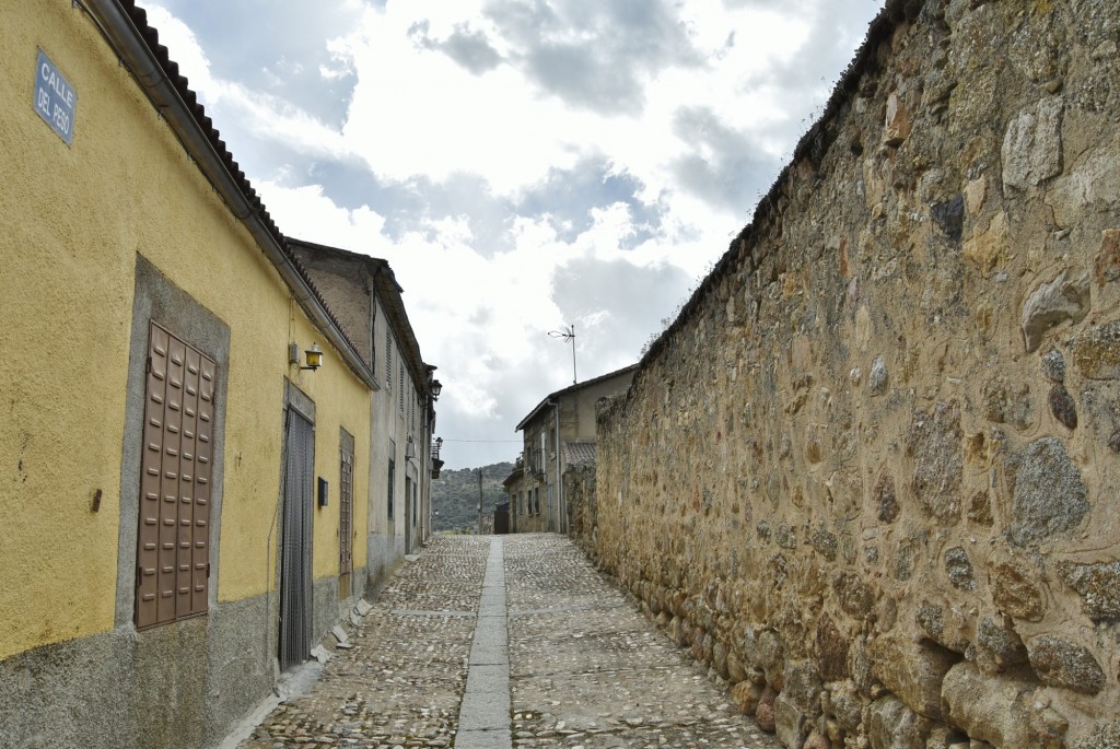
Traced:
<path fill-rule="evenodd" d="M 289 408 L 286 434 L 283 534 L 280 549 L 280 667 L 311 650 L 311 503 L 315 428 Z"/>

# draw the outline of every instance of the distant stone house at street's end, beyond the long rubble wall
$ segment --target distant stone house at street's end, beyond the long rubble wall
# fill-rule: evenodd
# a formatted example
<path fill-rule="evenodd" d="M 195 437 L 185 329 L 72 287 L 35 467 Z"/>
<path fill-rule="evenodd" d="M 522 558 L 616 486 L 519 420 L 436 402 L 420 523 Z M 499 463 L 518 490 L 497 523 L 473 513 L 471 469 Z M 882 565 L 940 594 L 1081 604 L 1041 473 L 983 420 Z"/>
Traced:
<path fill-rule="evenodd" d="M 512 533 L 567 533 L 564 471 L 595 460 L 596 403 L 629 387 L 636 365 L 549 394 L 517 424 L 524 449 L 505 479 Z"/>

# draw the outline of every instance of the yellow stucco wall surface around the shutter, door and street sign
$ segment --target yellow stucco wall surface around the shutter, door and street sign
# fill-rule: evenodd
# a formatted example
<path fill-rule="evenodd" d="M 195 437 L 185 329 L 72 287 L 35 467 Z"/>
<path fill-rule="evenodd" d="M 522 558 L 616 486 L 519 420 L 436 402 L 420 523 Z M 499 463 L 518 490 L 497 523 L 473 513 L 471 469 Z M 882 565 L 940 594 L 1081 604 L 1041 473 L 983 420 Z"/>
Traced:
<path fill-rule="evenodd" d="M 113 626 L 121 453 L 137 253 L 231 333 L 220 600 L 274 587 L 283 380 L 317 405 L 316 469 L 337 487 L 338 428 L 357 446 L 365 527 L 370 392 L 314 330 L 68 0 L 0 7 L 0 658 Z M 78 94 L 67 147 L 31 106 L 41 48 Z M 295 310 L 295 312 L 293 312 Z M 289 339 L 326 352 L 289 367 Z M 100 512 L 91 511 L 101 489 Z M 124 518 L 134 523 L 134 518 Z M 337 574 L 337 504 L 316 511 L 315 574 Z M 355 565 L 364 544 L 355 544 Z"/>

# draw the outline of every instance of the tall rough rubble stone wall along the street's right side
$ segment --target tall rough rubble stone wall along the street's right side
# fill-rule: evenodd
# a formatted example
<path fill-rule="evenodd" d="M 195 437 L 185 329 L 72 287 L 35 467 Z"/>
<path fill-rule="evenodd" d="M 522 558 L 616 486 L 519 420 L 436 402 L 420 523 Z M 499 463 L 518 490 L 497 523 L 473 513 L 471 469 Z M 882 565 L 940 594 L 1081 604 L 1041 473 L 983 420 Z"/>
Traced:
<path fill-rule="evenodd" d="M 1118 41 L 888 2 L 600 414 L 584 541 L 785 746 L 1120 746 Z"/>

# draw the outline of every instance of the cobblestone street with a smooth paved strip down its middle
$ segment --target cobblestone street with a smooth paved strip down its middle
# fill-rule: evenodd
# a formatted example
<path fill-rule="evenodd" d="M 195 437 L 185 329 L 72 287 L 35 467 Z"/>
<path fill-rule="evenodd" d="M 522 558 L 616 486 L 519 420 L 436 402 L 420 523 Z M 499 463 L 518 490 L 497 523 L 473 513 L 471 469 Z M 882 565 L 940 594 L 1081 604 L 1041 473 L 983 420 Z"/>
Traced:
<path fill-rule="evenodd" d="M 436 536 L 372 603 L 241 747 L 778 746 L 562 536 Z"/>

